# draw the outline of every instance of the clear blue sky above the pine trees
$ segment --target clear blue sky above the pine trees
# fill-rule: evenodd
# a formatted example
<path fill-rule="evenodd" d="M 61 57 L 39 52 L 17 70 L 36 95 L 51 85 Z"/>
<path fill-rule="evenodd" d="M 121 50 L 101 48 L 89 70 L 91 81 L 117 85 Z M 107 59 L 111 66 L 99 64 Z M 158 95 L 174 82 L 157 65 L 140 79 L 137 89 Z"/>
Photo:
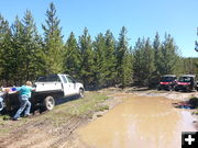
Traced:
<path fill-rule="evenodd" d="M 0 0 L 0 13 L 11 24 L 15 15 L 22 19 L 30 10 L 42 34 L 51 2 L 56 7 L 65 41 L 70 32 L 78 38 L 85 27 L 92 39 L 107 30 L 118 38 L 121 27 L 125 26 L 132 47 L 139 37 L 153 39 L 158 32 L 164 41 L 168 33 L 182 56 L 198 57 L 195 52 L 198 0 Z"/>

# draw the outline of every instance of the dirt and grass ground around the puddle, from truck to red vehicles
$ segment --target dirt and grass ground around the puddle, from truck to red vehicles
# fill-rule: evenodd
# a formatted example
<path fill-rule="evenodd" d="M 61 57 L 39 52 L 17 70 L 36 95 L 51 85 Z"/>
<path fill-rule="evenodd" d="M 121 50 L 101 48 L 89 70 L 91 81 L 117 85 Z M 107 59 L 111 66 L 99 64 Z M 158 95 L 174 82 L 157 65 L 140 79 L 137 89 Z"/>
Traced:
<path fill-rule="evenodd" d="M 166 96 L 187 100 L 198 92 L 136 91 L 134 89 L 103 89 L 86 92 L 85 99 L 73 100 L 56 106 L 53 111 L 22 121 L 3 121 L 0 117 L 0 148 L 88 148 L 80 141 L 76 128 L 95 121 L 121 103 L 128 94 Z M 109 107 L 108 107 L 109 106 Z"/>

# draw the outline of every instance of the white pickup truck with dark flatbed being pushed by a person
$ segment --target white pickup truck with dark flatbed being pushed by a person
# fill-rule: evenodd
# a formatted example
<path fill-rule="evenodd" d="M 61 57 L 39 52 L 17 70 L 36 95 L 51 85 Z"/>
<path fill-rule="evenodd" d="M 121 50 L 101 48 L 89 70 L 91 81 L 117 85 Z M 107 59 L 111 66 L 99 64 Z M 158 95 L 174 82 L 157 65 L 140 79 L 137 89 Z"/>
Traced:
<path fill-rule="evenodd" d="M 40 77 L 34 82 L 35 91 L 32 92 L 31 102 L 33 106 L 41 105 L 45 110 L 53 110 L 56 99 L 63 99 L 70 95 L 84 96 L 84 86 L 77 82 L 68 75 L 50 75 Z M 11 111 L 19 107 L 19 94 L 6 94 L 3 104 L 6 110 Z"/>

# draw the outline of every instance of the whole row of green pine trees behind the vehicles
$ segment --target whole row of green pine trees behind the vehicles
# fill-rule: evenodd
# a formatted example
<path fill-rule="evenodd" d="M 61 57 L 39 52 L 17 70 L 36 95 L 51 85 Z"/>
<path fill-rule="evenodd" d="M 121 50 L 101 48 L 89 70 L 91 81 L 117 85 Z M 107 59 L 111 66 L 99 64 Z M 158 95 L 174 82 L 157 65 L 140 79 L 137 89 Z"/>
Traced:
<path fill-rule="evenodd" d="M 85 27 L 78 38 L 72 32 L 64 42 L 59 22 L 54 3 L 46 11 L 43 35 L 29 10 L 12 24 L 0 15 L 1 84 L 68 73 L 87 88 L 153 87 L 163 75 L 198 75 L 198 58 L 182 57 L 170 34 L 165 34 L 164 41 L 158 33 L 153 41 L 139 38 L 132 47 L 124 26 L 118 39 L 110 30 L 92 38 Z"/>

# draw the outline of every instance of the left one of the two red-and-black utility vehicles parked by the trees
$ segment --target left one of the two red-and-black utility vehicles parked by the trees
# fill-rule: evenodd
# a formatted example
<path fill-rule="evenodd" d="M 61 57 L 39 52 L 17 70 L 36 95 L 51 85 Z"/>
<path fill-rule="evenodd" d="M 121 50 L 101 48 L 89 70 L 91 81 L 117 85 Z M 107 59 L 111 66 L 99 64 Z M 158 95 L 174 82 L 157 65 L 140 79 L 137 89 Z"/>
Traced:
<path fill-rule="evenodd" d="M 165 75 L 162 77 L 157 90 L 174 90 L 177 77 L 175 75 Z"/>

